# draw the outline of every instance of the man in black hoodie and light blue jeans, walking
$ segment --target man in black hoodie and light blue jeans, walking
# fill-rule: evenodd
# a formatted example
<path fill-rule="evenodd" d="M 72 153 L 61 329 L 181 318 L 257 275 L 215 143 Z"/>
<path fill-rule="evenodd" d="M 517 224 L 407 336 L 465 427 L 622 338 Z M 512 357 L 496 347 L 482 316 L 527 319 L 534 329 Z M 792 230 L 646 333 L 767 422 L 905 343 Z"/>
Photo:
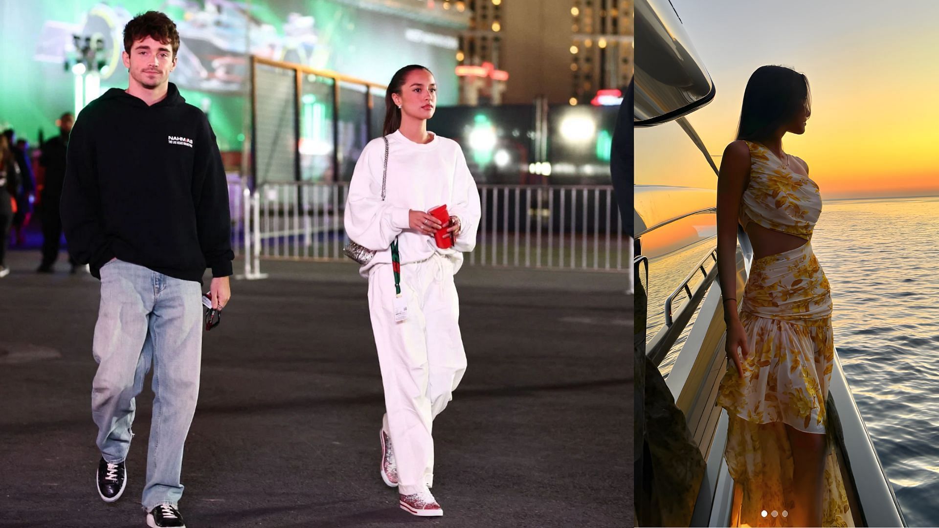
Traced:
<path fill-rule="evenodd" d="M 61 203 L 69 253 L 101 280 L 91 407 L 105 502 L 124 490 L 134 397 L 153 362 L 143 493 L 151 527 L 185 526 L 177 502 L 199 390 L 201 281 L 210 268 L 211 303 L 222 309 L 233 258 L 215 134 L 168 81 L 178 48 L 176 24 L 160 12 L 125 26 L 129 87 L 108 90 L 78 116 Z"/>

